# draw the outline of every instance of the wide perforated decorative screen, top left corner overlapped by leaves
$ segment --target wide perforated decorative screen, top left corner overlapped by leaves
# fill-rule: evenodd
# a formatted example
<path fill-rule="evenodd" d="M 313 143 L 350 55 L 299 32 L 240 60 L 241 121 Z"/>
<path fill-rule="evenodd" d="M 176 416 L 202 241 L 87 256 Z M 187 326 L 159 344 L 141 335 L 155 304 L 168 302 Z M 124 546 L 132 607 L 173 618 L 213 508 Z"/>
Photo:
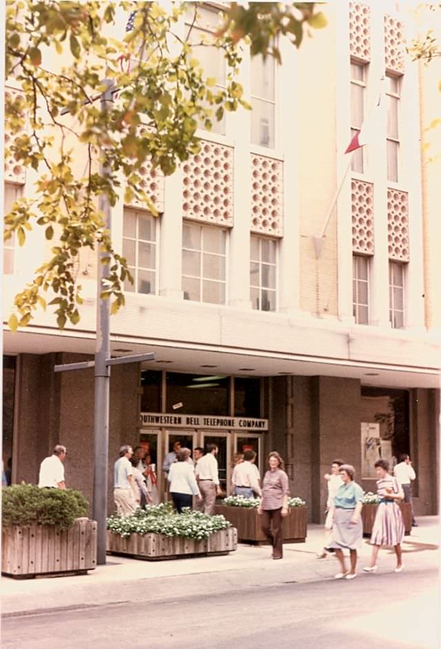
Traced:
<path fill-rule="evenodd" d="M 201 142 L 201 152 L 183 165 L 183 216 L 233 226 L 233 149 Z"/>

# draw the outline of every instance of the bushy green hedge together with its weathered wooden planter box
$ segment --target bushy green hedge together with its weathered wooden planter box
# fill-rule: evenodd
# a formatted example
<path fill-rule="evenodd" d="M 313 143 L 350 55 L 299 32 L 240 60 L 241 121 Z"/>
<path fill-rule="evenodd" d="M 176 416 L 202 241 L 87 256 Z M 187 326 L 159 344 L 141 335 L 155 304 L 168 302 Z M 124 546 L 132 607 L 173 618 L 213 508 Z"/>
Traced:
<path fill-rule="evenodd" d="M 96 568 L 96 522 L 74 489 L 16 484 L 2 489 L 1 571 L 13 577 Z"/>

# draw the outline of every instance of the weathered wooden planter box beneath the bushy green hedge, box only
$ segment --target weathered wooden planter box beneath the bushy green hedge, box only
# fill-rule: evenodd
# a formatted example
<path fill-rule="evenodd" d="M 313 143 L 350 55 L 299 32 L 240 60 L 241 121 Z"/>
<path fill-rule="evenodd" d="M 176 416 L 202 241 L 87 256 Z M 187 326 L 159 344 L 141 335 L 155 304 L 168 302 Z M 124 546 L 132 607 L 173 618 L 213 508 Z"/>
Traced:
<path fill-rule="evenodd" d="M 77 518 L 69 529 L 52 525 L 2 530 L 1 572 L 17 578 L 85 574 L 96 568 L 96 521 Z"/>

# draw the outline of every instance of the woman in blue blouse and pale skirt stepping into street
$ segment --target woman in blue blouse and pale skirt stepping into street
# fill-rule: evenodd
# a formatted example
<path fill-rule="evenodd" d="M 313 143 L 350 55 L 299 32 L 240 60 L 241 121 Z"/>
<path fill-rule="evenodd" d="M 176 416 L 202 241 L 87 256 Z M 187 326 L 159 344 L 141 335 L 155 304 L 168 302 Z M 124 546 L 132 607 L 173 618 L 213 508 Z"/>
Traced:
<path fill-rule="evenodd" d="M 340 476 L 343 484 L 338 488 L 334 503 L 331 504 L 332 515 L 332 541 L 329 548 L 333 548 L 340 562 L 341 571 L 335 578 L 353 579 L 356 577 L 357 548 L 363 537 L 361 510 L 363 506 L 363 490 L 359 484 L 353 482 L 356 475 L 351 464 L 340 466 Z M 343 549 L 349 550 L 351 570 L 346 570 Z"/>

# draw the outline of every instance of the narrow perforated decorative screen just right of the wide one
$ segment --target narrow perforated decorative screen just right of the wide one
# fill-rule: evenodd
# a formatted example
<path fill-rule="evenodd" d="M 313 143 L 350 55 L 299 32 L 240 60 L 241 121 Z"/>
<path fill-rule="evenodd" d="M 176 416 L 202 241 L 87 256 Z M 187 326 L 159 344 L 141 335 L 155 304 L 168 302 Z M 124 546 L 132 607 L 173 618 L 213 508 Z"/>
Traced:
<path fill-rule="evenodd" d="M 252 232 L 283 236 L 283 162 L 251 156 Z"/>

